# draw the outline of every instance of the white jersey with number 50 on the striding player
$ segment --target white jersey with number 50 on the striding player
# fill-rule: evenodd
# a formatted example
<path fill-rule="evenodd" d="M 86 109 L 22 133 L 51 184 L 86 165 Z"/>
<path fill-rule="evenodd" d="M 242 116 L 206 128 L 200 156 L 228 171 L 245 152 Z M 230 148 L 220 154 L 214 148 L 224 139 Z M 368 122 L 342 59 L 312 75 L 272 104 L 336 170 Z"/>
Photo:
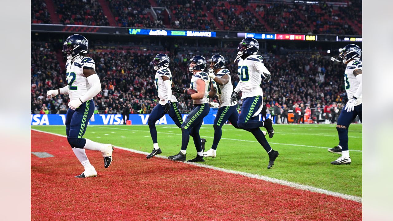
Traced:
<path fill-rule="evenodd" d="M 245 60 L 239 58 L 237 63 L 237 74 L 239 75 L 239 87 L 242 92 L 242 99 L 263 96 L 261 83 L 263 76 L 270 72 L 263 65 L 263 57 L 261 55 L 250 55 Z"/>

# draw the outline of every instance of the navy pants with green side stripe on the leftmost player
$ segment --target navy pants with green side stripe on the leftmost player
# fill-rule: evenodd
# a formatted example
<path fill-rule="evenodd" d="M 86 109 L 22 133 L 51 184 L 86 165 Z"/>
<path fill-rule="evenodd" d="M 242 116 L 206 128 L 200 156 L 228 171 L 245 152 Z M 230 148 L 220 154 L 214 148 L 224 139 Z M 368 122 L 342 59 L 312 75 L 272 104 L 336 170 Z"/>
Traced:
<path fill-rule="evenodd" d="M 86 140 L 82 138 L 86 132 L 87 124 L 94 114 L 94 101 L 88 100 L 81 104 L 76 110 L 67 110 L 66 134 L 71 147 L 83 148 Z"/>

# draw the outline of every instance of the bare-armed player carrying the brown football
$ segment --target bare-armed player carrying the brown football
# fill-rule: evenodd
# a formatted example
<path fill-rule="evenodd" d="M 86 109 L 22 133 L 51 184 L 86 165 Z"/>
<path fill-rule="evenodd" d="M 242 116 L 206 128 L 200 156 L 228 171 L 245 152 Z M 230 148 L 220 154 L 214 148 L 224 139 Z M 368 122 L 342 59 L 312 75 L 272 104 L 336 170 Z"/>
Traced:
<path fill-rule="evenodd" d="M 195 94 L 187 94 L 187 90 L 173 87 L 173 92 L 183 94 L 183 98 L 186 100 L 192 99 L 194 108 L 188 114 L 185 121 L 182 123 L 182 148 L 177 155 L 169 156 L 169 160 L 174 161 L 185 161 L 185 154 L 187 145 L 190 140 L 190 135 L 193 137 L 194 144 L 196 147 L 196 157 L 187 162 L 204 162 L 202 141 L 199 136 L 199 129 L 202 126 L 203 118 L 208 115 L 209 107 L 209 90 L 210 90 L 210 78 L 209 75 L 204 72 L 206 68 L 206 60 L 200 55 L 196 55 L 188 61 L 188 70 L 193 74 L 191 77 L 190 88 L 196 90 Z"/>

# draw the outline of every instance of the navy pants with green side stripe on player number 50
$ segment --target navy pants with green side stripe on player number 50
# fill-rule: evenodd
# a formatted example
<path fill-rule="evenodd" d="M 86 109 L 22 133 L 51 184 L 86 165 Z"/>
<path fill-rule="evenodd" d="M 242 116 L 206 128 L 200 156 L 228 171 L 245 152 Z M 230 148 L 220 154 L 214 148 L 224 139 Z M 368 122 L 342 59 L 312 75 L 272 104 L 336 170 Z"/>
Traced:
<path fill-rule="evenodd" d="M 272 147 L 259 129 L 259 127 L 263 127 L 264 123 L 258 120 L 259 116 L 252 117 L 258 111 L 260 105 L 263 105 L 261 96 L 244 98 L 237 125 L 243 130 L 250 131 L 268 153 L 272 150 Z"/>

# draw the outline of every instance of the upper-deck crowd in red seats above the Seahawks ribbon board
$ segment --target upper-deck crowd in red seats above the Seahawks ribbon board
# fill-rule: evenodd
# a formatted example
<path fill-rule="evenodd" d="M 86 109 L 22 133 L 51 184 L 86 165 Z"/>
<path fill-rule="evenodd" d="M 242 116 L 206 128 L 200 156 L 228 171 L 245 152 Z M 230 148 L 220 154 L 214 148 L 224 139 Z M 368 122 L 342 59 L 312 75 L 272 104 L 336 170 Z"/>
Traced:
<path fill-rule="evenodd" d="M 151 2 L 157 4 L 154 10 L 162 12 L 166 8 L 168 14 L 156 11 L 157 19 L 154 19 Z M 62 24 L 109 26 L 98 0 L 53 0 L 53 3 Z M 127 27 L 342 35 L 359 35 L 362 29 L 360 0 L 349 2 L 347 7 L 326 2 L 288 4 L 244 0 L 106 0 L 106 3 L 111 12 L 108 16 L 113 16 L 118 26 Z M 44 1 L 32 1 L 31 23 L 51 23 Z"/>

